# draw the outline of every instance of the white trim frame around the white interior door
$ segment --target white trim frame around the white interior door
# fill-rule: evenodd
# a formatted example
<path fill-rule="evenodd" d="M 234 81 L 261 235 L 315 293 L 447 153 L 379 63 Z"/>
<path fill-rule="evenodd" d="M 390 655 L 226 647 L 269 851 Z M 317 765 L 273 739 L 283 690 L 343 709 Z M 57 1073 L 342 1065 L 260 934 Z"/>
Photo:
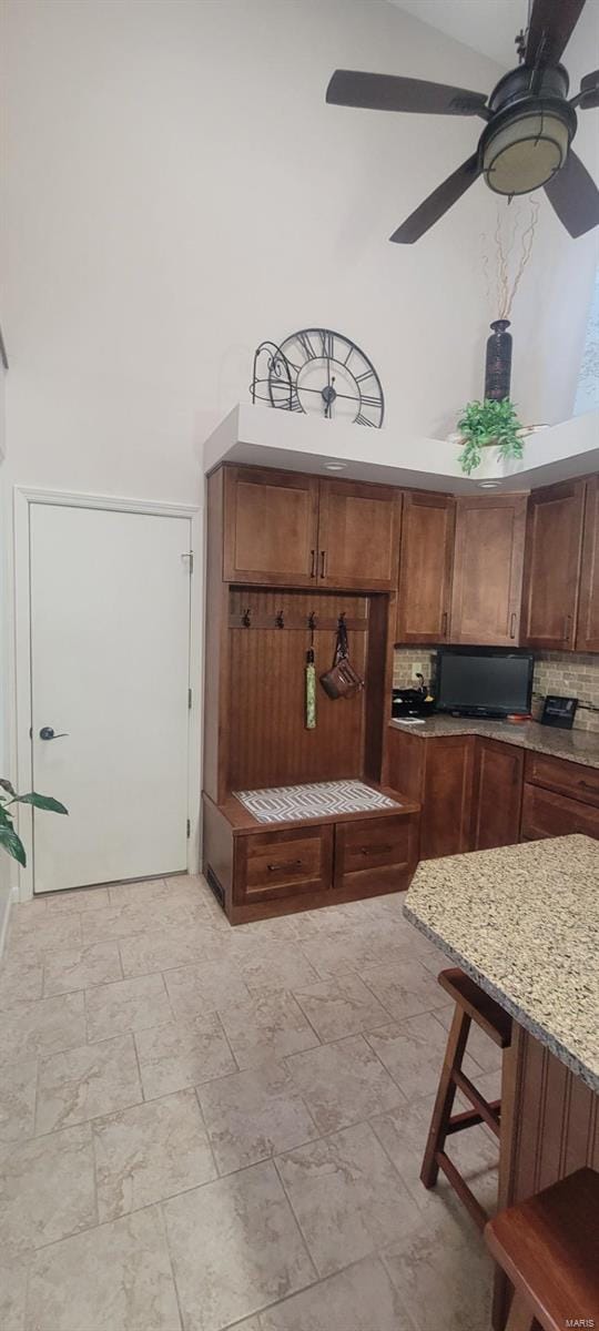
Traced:
<path fill-rule="evenodd" d="M 193 575 L 190 576 L 189 679 L 192 707 L 188 717 L 188 873 L 200 873 L 200 796 L 202 752 L 202 642 L 204 642 L 204 511 L 200 504 L 161 503 L 154 499 L 125 499 L 116 495 L 77 494 L 69 490 L 39 490 L 15 486 L 15 666 L 16 666 L 16 773 L 17 789 L 32 787 L 32 660 L 31 660 L 31 539 L 32 504 L 57 504 L 68 508 L 102 508 L 109 512 L 142 512 L 154 518 L 188 518 L 190 522 Z M 197 680 L 197 685 L 193 683 Z M 52 793 L 52 792 L 49 792 Z M 27 849 L 27 868 L 19 866 L 19 900 L 33 897 L 32 829 L 33 811 L 19 805 L 19 833 Z"/>

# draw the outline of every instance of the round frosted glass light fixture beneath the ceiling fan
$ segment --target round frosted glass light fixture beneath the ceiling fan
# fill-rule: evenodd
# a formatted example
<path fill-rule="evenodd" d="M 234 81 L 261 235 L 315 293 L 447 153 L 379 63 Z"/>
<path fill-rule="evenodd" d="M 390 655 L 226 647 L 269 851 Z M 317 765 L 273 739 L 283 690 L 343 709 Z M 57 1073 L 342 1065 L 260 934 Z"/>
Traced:
<path fill-rule="evenodd" d="M 482 144 L 489 188 L 497 194 L 527 194 L 544 185 L 563 166 L 571 137 L 568 117 L 552 110 L 512 113 L 497 128 L 490 125 Z"/>

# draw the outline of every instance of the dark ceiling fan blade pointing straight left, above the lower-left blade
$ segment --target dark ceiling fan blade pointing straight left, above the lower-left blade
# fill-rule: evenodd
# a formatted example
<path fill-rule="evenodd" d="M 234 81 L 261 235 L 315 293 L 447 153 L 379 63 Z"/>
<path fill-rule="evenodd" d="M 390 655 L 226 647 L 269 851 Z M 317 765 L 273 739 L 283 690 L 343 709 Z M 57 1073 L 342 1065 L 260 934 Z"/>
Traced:
<path fill-rule="evenodd" d="M 433 84 L 426 79 L 361 73 L 358 69 L 335 69 L 326 89 L 326 101 L 335 106 L 362 106 L 369 110 L 414 110 L 425 116 L 489 118 L 487 98 L 482 92 Z"/>

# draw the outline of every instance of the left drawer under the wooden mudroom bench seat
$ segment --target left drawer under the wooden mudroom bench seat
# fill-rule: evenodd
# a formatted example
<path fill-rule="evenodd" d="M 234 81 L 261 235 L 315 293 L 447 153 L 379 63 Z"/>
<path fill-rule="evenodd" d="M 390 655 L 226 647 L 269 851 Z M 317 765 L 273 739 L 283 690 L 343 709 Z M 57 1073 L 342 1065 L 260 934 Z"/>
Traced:
<path fill-rule="evenodd" d="M 326 890 L 331 878 L 331 825 L 257 832 L 236 839 L 237 902 Z"/>

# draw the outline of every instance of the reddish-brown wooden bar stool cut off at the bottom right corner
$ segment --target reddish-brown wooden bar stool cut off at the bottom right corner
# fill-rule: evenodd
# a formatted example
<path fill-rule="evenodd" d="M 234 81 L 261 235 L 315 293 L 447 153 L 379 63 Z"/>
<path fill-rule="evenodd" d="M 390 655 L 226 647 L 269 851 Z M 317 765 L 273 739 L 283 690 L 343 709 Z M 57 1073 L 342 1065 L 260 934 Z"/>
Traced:
<path fill-rule="evenodd" d="M 599 1174 L 579 1169 L 485 1229 L 514 1286 L 506 1331 L 599 1326 Z"/>

